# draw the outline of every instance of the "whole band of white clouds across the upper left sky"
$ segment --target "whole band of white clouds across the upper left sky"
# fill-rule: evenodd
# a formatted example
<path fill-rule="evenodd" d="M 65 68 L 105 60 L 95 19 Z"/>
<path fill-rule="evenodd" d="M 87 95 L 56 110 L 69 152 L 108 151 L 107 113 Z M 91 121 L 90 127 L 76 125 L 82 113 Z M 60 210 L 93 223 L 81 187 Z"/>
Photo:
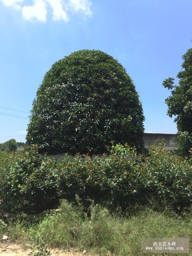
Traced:
<path fill-rule="evenodd" d="M 91 0 L 33 0 L 33 5 L 24 5 L 26 0 L 0 0 L 5 6 L 13 7 L 22 12 L 23 18 L 29 21 L 47 20 L 47 7 L 52 8 L 52 19 L 67 22 L 68 11 L 82 13 L 84 16 L 92 16 Z"/>

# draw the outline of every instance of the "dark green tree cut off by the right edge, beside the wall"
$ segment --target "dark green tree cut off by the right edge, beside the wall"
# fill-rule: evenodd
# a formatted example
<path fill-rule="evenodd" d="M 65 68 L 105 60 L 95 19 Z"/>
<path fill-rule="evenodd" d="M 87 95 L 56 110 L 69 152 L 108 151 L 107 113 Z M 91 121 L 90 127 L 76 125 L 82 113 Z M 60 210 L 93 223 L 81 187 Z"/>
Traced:
<path fill-rule="evenodd" d="M 165 102 L 168 115 L 176 116 L 174 122 L 178 128 L 178 146 L 183 155 L 189 155 L 192 148 L 192 48 L 183 55 L 182 70 L 178 73 L 179 85 L 174 85 L 174 78 L 169 77 L 163 86 L 172 90 L 172 95 Z"/>

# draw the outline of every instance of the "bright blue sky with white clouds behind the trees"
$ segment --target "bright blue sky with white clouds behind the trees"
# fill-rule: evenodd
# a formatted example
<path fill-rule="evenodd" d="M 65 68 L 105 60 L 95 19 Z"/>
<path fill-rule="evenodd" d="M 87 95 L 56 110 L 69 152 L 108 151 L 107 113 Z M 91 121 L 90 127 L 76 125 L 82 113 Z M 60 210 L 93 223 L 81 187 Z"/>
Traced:
<path fill-rule="evenodd" d="M 0 107 L 29 112 L 52 64 L 80 49 L 116 58 L 142 101 L 145 132 L 175 133 L 166 116 L 170 94 L 162 81 L 176 77 L 191 48 L 191 0 L 0 0 Z M 0 108 L 1 113 L 28 116 Z M 28 120 L 0 115 L 0 137 L 25 135 Z M 25 136 L 0 138 L 0 143 Z"/>

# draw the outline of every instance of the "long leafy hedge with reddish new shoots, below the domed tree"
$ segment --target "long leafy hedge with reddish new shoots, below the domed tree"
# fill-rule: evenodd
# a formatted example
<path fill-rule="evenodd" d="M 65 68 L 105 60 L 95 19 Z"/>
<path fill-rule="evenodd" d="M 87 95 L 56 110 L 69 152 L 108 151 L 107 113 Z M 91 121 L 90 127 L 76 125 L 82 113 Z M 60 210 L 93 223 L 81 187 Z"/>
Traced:
<path fill-rule="evenodd" d="M 192 202 L 192 163 L 163 146 L 137 156 L 128 146 L 112 145 L 109 156 L 43 157 L 38 148 L 23 156 L 1 154 L 0 201 L 5 211 L 42 211 L 78 194 L 88 206 L 109 201 L 147 203 L 152 196 L 178 206 Z"/>

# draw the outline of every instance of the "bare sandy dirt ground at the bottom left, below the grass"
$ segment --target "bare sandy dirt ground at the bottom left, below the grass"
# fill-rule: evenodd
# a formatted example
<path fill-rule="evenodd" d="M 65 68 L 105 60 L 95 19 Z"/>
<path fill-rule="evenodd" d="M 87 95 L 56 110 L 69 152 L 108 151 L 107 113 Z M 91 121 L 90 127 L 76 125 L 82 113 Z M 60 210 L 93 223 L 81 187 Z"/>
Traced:
<path fill-rule="evenodd" d="M 50 250 L 51 256 L 90 256 L 86 254 L 86 251 L 76 252 L 73 250 L 72 252 L 65 252 L 62 250 Z M 0 243 L 0 256 L 30 256 L 31 249 L 25 250 L 19 244 L 12 243 Z"/>

